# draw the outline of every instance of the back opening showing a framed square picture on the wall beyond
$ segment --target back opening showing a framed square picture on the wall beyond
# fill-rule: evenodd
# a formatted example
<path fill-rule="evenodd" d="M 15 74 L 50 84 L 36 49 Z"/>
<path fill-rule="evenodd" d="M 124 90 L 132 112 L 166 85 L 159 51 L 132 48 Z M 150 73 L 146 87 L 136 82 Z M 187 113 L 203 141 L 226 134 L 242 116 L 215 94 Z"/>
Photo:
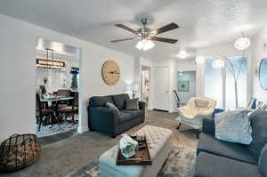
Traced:
<path fill-rule="evenodd" d="M 190 98 L 196 96 L 196 71 L 178 71 L 177 78 L 179 106 L 184 106 Z"/>

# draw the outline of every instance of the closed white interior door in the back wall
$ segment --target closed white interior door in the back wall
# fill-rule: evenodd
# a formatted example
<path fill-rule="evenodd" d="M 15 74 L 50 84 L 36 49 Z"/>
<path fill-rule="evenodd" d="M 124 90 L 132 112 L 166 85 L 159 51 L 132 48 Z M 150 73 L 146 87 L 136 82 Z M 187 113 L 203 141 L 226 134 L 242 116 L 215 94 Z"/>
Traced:
<path fill-rule="evenodd" d="M 154 68 L 154 109 L 169 110 L 169 67 Z"/>

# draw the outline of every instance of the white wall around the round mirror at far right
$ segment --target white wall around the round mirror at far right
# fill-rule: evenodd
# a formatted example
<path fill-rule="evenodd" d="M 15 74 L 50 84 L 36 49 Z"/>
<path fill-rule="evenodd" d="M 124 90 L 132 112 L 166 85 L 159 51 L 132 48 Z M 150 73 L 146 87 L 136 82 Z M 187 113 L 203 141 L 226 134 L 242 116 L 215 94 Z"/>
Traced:
<path fill-rule="evenodd" d="M 253 83 L 253 96 L 259 101 L 267 102 L 267 90 L 263 90 L 261 87 L 258 73 L 256 73 L 261 60 L 267 58 L 267 48 L 264 50 L 264 43 L 267 44 L 267 26 L 262 28 L 252 39 L 252 60 L 250 69 Z"/>

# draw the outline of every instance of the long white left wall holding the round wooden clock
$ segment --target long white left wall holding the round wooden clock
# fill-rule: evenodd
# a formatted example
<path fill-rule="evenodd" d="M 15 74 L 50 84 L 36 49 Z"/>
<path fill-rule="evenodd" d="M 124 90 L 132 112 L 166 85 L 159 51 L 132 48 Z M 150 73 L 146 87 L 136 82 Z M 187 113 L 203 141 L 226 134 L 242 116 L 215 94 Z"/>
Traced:
<path fill-rule="evenodd" d="M 88 130 L 86 101 L 90 96 L 123 93 L 125 84 L 134 81 L 134 58 L 124 53 L 4 15 L 0 15 L 0 24 L 0 141 L 13 133 L 35 133 L 37 36 L 81 49 L 80 133 Z M 120 66 L 121 79 L 114 86 L 101 78 L 105 60 L 116 60 Z"/>

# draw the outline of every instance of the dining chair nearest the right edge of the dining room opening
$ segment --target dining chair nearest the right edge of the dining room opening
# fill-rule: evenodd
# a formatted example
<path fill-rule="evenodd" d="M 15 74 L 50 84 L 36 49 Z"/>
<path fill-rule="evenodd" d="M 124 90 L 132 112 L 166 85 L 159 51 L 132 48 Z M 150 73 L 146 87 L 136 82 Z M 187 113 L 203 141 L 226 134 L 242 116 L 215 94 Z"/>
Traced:
<path fill-rule="evenodd" d="M 75 114 L 78 114 L 78 93 L 74 94 L 72 105 L 63 108 L 57 107 L 57 115 L 60 115 L 61 119 L 63 115 L 65 116 L 65 120 L 67 120 L 67 117 L 71 116 L 72 121 L 75 122 Z"/>

